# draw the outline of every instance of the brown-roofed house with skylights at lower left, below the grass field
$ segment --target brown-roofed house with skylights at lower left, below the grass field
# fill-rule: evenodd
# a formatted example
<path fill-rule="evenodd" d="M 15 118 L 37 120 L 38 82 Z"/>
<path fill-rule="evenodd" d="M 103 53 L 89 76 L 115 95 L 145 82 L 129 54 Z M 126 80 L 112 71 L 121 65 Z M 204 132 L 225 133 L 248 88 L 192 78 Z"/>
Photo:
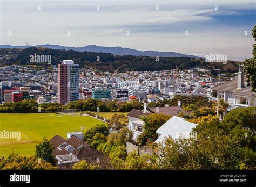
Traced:
<path fill-rule="evenodd" d="M 68 133 L 68 139 L 56 135 L 50 142 L 54 147 L 52 154 L 58 160 L 60 168 L 69 168 L 80 160 L 86 160 L 87 163 L 102 163 L 105 155 L 91 147 L 83 141 L 82 132 Z"/>

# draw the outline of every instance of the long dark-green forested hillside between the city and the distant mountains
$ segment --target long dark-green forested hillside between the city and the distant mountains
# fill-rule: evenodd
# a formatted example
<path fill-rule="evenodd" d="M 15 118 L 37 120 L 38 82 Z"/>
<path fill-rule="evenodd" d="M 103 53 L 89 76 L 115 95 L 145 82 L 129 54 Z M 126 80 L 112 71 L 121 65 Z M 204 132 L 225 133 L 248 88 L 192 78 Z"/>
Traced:
<path fill-rule="evenodd" d="M 65 59 L 72 59 L 80 67 L 94 68 L 103 71 L 160 71 L 169 69 L 191 69 L 193 67 L 205 67 L 214 69 L 225 69 L 235 72 L 238 67 L 236 62 L 206 63 L 204 59 L 193 59 L 190 57 L 150 57 L 132 55 L 113 55 L 110 53 L 77 52 L 73 50 L 58 50 L 40 47 L 30 47 L 26 49 L 0 49 L 0 65 L 11 64 L 42 64 L 46 63 L 30 62 L 30 55 L 51 55 L 51 64 L 59 64 Z"/>

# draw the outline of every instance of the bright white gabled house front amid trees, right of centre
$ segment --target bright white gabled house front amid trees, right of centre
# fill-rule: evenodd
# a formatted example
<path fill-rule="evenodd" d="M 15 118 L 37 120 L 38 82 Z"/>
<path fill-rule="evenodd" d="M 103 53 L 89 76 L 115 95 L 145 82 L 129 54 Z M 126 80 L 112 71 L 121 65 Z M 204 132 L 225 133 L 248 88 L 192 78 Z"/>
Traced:
<path fill-rule="evenodd" d="M 196 138 L 195 135 L 191 133 L 192 129 L 196 126 L 197 124 L 188 122 L 184 118 L 173 116 L 166 121 L 164 125 L 158 128 L 156 131 L 158 139 L 155 142 L 164 142 L 164 140 L 169 136 L 173 139 L 177 139 L 181 137 L 188 138 L 188 136 L 191 137 L 193 135 L 193 138 Z"/>

